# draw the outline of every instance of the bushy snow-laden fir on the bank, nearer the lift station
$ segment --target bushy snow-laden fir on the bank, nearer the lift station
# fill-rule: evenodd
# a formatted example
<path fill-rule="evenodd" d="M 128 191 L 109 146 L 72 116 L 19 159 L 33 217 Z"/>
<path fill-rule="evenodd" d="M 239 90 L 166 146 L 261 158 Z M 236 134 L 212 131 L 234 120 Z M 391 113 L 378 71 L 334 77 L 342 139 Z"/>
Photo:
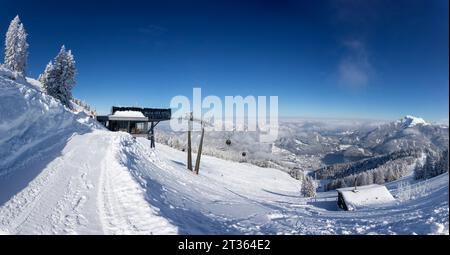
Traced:
<path fill-rule="evenodd" d="M 64 45 L 53 62 L 50 62 L 39 80 L 47 94 L 71 108 L 72 89 L 75 86 L 75 60 L 72 52 Z"/>

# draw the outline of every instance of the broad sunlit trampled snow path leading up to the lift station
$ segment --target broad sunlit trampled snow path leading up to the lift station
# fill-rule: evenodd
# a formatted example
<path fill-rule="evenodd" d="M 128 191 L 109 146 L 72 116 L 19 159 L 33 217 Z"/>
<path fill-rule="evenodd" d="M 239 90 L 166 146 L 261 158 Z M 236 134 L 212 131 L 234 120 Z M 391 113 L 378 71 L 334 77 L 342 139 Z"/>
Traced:
<path fill-rule="evenodd" d="M 0 207 L 0 229 L 11 234 L 176 233 L 114 160 L 120 134 L 105 134 L 74 136 L 60 157 Z"/>

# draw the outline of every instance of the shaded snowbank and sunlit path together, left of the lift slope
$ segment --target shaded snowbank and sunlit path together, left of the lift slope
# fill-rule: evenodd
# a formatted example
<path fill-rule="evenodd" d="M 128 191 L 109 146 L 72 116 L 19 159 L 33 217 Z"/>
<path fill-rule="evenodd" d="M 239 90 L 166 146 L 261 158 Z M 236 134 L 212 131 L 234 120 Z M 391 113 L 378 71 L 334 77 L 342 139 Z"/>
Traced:
<path fill-rule="evenodd" d="M 131 137 L 14 75 L 0 69 L 0 231 L 176 233 L 117 159 L 118 141 Z"/>

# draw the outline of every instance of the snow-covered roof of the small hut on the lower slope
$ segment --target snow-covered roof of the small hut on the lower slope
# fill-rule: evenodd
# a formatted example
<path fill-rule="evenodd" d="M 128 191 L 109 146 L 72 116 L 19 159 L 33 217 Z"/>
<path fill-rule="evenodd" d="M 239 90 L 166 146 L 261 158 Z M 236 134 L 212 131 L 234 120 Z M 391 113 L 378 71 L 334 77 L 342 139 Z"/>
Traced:
<path fill-rule="evenodd" d="M 372 184 L 366 186 L 341 188 L 336 190 L 342 194 L 348 210 L 356 210 L 374 205 L 392 203 L 395 201 L 389 190 L 383 185 Z"/>

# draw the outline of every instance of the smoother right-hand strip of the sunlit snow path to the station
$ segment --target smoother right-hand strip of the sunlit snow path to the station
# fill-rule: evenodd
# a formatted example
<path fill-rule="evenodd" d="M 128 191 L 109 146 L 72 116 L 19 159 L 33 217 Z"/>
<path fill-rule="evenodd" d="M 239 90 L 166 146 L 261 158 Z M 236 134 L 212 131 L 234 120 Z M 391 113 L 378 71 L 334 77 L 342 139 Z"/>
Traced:
<path fill-rule="evenodd" d="M 127 169 L 117 164 L 114 157 L 117 157 L 117 145 L 122 139 L 123 136 L 116 136 L 109 141 L 110 150 L 101 166 L 99 200 L 102 201 L 101 214 L 105 233 L 176 234 L 177 229 L 157 216 L 155 210 L 147 204 L 144 192 Z"/>

